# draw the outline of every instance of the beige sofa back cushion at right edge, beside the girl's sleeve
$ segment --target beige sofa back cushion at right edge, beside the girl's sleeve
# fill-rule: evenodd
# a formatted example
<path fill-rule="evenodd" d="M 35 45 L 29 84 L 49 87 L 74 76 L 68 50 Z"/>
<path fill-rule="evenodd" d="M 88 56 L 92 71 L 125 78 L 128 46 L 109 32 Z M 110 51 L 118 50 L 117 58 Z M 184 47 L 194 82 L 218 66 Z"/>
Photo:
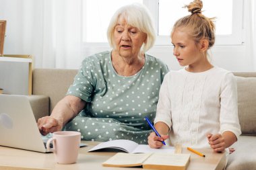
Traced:
<path fill-rule="evenodd" d="M 242 134 L 256 135 L 256 77 L 236 77 Z"/>

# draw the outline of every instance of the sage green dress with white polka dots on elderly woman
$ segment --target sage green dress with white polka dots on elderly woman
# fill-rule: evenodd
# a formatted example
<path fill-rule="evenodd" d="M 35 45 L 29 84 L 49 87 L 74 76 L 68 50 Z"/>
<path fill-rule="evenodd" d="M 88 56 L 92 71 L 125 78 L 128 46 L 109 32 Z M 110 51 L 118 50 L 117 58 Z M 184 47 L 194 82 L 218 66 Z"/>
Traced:
<path fill-rule="evenodd" d="M 110 52 L 86 58 L 67 94 L 88 105 L 65 130 L 79 129 L 82 140 L 122 138 L 146 144 L 151 130 L 144 118 L 156 116 L 159 89 L 167 72 L 166 65 L 147 54 L 144 67 L 129 77 L 116 73 Z"/>

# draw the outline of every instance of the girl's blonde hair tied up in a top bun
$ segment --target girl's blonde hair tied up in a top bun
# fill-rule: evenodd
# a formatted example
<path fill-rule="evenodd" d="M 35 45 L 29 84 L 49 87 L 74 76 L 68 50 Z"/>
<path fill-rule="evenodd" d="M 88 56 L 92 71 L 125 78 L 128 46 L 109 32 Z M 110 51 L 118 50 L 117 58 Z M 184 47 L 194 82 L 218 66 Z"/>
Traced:
<path fill-rule="evenodd" d="M 199 42 L 202 39 L 207 40 L 209 42 L 208 49 L 210 49 L 215 43 L 215 17 L 208 18 L 202 14 L 203 2 L 201 0 L 194 0 L 189 5 L 185 5 L 185 7 L 191 12 L 191 15 L 182 17 L 175 22 L 172 32 L 177 28 L 183 28 L 195 42 Z"/>

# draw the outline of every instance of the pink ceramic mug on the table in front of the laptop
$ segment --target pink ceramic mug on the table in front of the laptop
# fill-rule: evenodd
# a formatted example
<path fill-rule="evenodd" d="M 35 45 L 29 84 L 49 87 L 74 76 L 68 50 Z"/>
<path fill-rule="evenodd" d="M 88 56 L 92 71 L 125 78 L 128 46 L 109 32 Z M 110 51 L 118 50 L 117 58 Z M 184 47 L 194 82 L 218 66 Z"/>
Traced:
<path fill-rule="evenodd" d="M 46 148 L 53 151 L 55 161 L 61 164 L 70 164 L 77 161 L 81 133 L 73 131 L 54 132 L 53 137 L 49 138 Z M 53 142 L 53 148 L 50 143 Z"/>

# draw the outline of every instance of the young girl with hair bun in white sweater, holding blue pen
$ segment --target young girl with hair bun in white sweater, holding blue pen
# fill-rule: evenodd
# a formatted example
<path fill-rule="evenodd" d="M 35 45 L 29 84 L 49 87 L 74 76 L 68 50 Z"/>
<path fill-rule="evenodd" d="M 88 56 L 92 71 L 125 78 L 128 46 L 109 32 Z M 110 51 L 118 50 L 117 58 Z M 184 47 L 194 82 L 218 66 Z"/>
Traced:
<path fill-rule="evenodd" d="M 202 1 L 186 7 L 191 15 L 179 19 L 171 33 L 173 54 L 185 68 L 164 77 L 154 120 L 161 137 L 152 132 L 148 144 L 160 148 L 161 141 L 170 138 L 172 146 L 210 146 L 222 152 L 241 134 L 236 79 L 207 59 L 207 50 L 215 42 L 215 26 L 212 18 L 202 15 Z"/>

